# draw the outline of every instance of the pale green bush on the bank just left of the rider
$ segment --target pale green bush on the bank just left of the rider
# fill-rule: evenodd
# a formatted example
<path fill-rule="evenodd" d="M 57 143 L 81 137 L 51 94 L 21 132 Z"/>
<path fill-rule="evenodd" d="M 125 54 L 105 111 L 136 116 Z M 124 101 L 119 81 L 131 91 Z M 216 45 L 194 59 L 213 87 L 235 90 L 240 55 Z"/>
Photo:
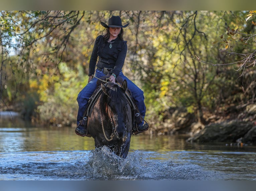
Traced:
<path fill-rule="evenodd" d="M 76 121 L 77 95 L 88 78 L 84 77 L 83 73 L 77 74 L 71 70 L 66 63 L 59 64 L 59 72 L 62 79 L 52 84 L 51 91 L 48 91 L 49 87 L 39 91 L 42 104 L 37 107 L 37 112 L 40 119 L 46 123 L 70 125 Z M 40 81 L 39 86 L 44 86 L 44 83 L 51 83 L 51 79 L 48 79 L 48 82 Z"/>

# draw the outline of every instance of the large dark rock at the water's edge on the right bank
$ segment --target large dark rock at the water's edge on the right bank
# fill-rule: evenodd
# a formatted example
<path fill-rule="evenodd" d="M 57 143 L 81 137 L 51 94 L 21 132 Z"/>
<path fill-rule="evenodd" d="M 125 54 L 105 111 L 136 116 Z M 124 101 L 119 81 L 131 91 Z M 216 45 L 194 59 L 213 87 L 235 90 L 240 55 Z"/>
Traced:
<path fill-rule="evenodd" d="M 252 122 L 237 119 L 221 123 L 213 123 L 206 125 L 199 133 L 189 137 L 187 141 L 236 142 L 236 140 L 243 137 L 252 126 Z"/>

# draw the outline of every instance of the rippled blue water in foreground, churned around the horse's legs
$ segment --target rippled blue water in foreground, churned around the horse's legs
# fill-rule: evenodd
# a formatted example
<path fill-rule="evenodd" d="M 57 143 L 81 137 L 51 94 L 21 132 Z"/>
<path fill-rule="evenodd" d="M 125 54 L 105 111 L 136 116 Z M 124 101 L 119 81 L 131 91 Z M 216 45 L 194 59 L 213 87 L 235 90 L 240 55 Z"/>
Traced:
<path fill-rule="evenodd" d="M 131 150 L 127 158 L 123 159 L 107 147 L 89 151 L 0 153 L 0 180 L 223 180 L 241 178 L 239 175 L 241 172 L 234 173 L 232 169 L 229 171 L 223 168 L 218 169 L 216 164 L 216 161 L 224 161 L 224 158 L 237 158 L 237 153 L 234 157 L 230 153 L 227 156 L 224 153 L 221 158 L 220 154 Z M 230 172 L 232 172 L 232 177 Z M 246 178 L 255 178 L 255 173 L 252 172 Z"/>

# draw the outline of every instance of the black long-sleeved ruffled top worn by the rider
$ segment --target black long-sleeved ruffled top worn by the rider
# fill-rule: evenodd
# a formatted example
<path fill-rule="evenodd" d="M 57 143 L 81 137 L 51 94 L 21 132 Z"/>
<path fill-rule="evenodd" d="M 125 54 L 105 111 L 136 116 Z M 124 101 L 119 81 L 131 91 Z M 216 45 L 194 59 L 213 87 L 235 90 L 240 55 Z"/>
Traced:
<path fill-rule="evenodd" d="M 98 58 L 97 67 L 112 68 L 112 73 L 116 76 L 121 72 L 127 53 L 127 41 L 122 41 L 118 36 L 111 42 L 104 42 L 103 35 L 96 38 L 89 64 L 89 76 L 95 73 Z M 111 48 L 109 46 L 110 44 L 112 45 Z"/>

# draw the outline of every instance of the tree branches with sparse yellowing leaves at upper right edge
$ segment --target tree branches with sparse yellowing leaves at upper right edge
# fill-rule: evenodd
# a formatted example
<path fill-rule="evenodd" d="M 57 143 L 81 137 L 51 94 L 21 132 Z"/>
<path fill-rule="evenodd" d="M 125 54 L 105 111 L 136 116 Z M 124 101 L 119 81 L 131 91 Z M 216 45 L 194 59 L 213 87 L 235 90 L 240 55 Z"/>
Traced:
<path fill-rule="evenodd" d="M 243 91 L 244 95 L 240 99 L 244 106 L 254 103 L 256 95 L 255 72 L 252 70 L 252 67 L 256 64 L 256 50 L 254 48 L 256 42 L 255 15 L 256 11 L 249 11 L 249 13 L 232 12 L 232 18 L 228 20 L 229 22 L 223 24 L 223 33 L 215 43 L 221 46 L 219 54 L 226 57 L 224 62 L 215 64 L 214 62 L 195 58 L 199 62 L 211 66 L 225 66 L 228 69 L 234 68 L 237 72 L 240 72 L 237 79 L 241 80 L 239 82 L 241 84 L 240 91 Z"/>

